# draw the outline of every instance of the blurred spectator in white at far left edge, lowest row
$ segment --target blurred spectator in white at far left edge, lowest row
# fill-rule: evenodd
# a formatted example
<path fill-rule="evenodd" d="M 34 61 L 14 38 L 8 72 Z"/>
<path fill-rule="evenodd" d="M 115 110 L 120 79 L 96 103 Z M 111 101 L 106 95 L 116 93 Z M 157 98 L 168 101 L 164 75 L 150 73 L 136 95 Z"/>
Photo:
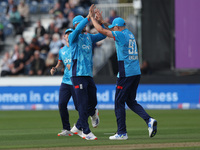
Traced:
<path fill-rule="evenodd" d="M 1 76 L 2 77 L 11 74 L 11 70 L 10 70 L 11 63 L 12 63 L 12 60 L 10 58 L 10 54 L 6 52 L 4 54 L 4 58 L 1 61 Z"/>

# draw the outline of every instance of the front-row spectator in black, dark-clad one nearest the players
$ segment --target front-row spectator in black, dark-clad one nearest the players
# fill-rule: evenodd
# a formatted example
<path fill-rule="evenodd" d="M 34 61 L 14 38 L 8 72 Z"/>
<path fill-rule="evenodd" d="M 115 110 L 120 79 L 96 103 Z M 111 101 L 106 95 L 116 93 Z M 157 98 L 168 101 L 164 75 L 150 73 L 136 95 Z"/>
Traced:
<path fill-rule="evenodd" d="M 43 75 L 45 69 L 45 62 L 40 58 L 40 51 L 36 50 L 34 52 L 34 59 L 31 63 L 31 69 L 29 75 Z"/>

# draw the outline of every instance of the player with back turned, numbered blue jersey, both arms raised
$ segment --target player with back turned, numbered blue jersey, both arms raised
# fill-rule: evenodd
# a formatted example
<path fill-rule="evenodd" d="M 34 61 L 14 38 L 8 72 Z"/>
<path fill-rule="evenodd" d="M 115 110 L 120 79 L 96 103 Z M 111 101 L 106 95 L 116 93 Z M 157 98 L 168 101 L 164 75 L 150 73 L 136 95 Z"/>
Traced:
<path fill-rule="evenodd" d="M 94 18 L 95 6 L 90 7 L 91 20 L 99 33 L 102 33 L 115 40 L 118 59 L 118 79 L 115 94 L 115 115 L 117 118 L 117 133 L 110 136 L 110 140 L 128 139 L 126 130 L 125 103 L 128 107 L 144 119 L 148 125 L 149 137 L 155 136 L 157 132 L 157 121 L 150 117 L 143 107 L 135 100 L 138 84 L 140 81 L 140 65 L 138 60 L 138 50 L 134 35 L 125 28 L 126 24 L 122 18 L 115 18 L 108 29 L 104 29 Z M 102 18 L 101 13 L 96 11 L 96 15 Z M 103 20 L 103 19 L 101 19 Z M 104 23 L 104 22 L 101 22 Z"/>

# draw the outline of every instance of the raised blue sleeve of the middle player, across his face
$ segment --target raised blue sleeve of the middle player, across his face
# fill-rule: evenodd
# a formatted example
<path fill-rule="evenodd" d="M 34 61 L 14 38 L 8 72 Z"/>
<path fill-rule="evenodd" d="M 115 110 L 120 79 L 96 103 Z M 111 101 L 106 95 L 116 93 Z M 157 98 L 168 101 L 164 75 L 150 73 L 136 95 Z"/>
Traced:
<path fill-rule="evenodd" d="M 78 35 L 82 32 L 83 28 L 89 22 L 88 18 L 84 18 L 75 28 L 75 30 L 69 34 L 69 44 L 73 43 L 77 38 Z"/>

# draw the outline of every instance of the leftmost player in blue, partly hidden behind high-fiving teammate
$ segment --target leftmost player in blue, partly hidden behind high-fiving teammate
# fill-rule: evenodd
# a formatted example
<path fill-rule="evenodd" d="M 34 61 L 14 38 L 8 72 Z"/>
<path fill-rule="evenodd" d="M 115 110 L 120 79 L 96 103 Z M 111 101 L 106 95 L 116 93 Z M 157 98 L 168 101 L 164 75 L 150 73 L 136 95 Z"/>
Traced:
<path fill-rule="evenodd" d="M 73 31 L 73 29 L 67 29 L 65 31 L 65 41 L 66 45 L 60 49 L 59 51 L 59 58 L 58 63 L 55 67 L 52 67 L 50 70 L 51 75 L 54 75 L 56 73 L 57 68 L 62 66 L 62 64 L 65 66 L 64 75 L 62 79 L 62 83 L 59 90 L 59 112 L 60 117 L 62 120 L 63 130 L 62 132 L 58 133 L 58 136 L 71 136 L 73 133 L 71 133 L 70 123 L 69 123 L 69 113 L 67 109 L 67 104 L 70 100 L 70 97 L 72 96 L 75 109 L 77 110 L 77 100 L 75 96 L 74 87 L 71 82 L 71 50 L 68 43 L 68 36 Z"/>

